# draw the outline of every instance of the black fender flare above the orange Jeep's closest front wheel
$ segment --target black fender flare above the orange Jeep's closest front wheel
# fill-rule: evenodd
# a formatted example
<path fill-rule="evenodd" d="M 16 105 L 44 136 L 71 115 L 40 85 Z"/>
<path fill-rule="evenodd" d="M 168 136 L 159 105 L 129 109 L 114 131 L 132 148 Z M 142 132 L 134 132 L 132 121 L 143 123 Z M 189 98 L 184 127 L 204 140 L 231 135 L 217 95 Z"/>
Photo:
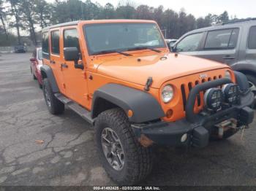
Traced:
<path fill-rule="evenodd" d="M 127 87 L 118 84 L 107 84 L 99 87 L 94 92 L 93 104 L 91 109 L 91 117 L 97 117 L 95 110 L 97 101 L 105 99 L 110 103 L 124 109 L 124 112 L 132 110 L 132 117 L 129 117 L 130 122 L 148 122 L 157 120 L 160 117 L 165 117 L 162 107 L 157 99 L 150 93 L 136 90 L 132 87 Z"/>

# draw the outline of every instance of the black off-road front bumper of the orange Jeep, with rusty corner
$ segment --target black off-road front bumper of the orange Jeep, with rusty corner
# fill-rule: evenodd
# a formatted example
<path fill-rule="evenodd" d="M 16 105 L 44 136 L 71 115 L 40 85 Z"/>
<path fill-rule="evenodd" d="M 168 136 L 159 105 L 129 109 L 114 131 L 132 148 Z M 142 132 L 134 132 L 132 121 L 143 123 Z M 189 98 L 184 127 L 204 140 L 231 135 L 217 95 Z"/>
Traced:
<path fill-rule="evenodd" d="M 211 82 L 209 84 L 211 85 Z M 195 94 L 197 93 L 195 91 Z M 132 124 L 132 129 L 139 140 L 141 137 L 146 137 L 155 144 L 175 147 L 182 145 L 206 147 L 211 136 L 211 130 L 220 122 L 236 119 L 238 127 L 252 123 L 254 111 L 249 106 L 252 105 L 254 98 L 255 95 L 251 91 L 247 91 L 241 94 L 241 103 L 239 105 L 230 106 L 214 114 L 203 115 L 192 113 L 192 116 L 186 116 L 186 118 L 176 122 L 161 121 Z M 191 107 L 194 106 L 194 103 L 191 104 Z M 191 114 L 187 110 L 186 113 Z M 184 134 L 187 134 L 187 139 L 186 141 L 181 141 Z"/>

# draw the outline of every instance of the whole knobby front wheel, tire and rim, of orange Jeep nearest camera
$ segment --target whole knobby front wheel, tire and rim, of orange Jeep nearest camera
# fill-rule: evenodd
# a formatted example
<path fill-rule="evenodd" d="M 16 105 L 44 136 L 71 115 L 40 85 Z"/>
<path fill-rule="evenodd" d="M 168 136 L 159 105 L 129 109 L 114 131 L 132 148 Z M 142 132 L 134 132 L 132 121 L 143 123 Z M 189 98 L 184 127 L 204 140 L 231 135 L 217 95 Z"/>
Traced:
<path fill-rule="evenodd" d="M 99 114 L 95 128 L 99 158 L 114 182 L 133 185 L 148 176 L 152 168 L 152 150 L 140 145 L 122 109 Z"/>

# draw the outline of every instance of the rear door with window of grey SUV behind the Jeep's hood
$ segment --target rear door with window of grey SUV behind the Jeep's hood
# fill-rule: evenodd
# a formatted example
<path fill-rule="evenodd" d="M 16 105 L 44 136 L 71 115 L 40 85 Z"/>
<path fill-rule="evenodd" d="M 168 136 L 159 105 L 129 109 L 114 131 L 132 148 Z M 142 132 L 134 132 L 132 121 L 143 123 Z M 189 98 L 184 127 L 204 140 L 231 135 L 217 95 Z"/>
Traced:
<path fill-rule="evenodd" d="M 208 31 L 197 56 L 231 65 L 238 60 L 239 28 Z"/>

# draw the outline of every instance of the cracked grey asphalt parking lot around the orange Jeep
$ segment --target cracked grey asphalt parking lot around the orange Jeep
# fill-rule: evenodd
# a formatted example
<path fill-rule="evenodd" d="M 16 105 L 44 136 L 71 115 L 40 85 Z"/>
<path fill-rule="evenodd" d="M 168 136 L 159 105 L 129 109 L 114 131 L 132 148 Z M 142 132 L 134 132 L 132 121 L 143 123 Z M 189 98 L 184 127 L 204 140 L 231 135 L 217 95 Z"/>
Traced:
<path fill-rule="evenodd" d="M 115 185 L 99 163 L 94 130 L 66 109 L 51 115 L 32 79 L 30 53 L 0 56 L 0 184 Z M 205 149 L 156 149 L 141 185 L 256 185 L 255 122 Z"/>

